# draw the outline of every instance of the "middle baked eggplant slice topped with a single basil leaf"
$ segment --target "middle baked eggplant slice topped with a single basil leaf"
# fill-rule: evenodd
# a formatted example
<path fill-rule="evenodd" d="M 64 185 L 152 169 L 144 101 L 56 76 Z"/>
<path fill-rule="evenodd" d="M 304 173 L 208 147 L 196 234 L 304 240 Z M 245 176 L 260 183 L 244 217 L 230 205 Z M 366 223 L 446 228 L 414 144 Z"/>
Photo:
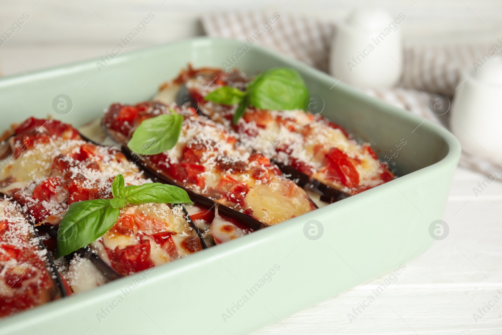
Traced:
<path fill-rule="evenodd" d="M 176 105 L 115 103 L 106 111 L 103 126 L 122 144 L 123 152 L 147 171 L 186 189 L 193 201 L 207 208 L 219 203 L 221 213 L 252 229 L 275 225 L 316 208 L 302 188 L 283 177 L 267 157 L 243 147 L 233 131 L 196 115 L 194 110 L 192 115 L 187 114 Z M 169 120 L 178 121 L 173 124 Z M 145 133 L 138 131 L 143 122 L 143 129 L 166 124 Z M 176 131 L 179 135 L 173 141 L 171 135 Z M 145 134 L 149 143 L 135 148 L 133 154 L 128 146 L 137 142 L 135 135 Z M 150 150 L 159 150 L 169 141 L 171 149 L 158 153 Z"/>

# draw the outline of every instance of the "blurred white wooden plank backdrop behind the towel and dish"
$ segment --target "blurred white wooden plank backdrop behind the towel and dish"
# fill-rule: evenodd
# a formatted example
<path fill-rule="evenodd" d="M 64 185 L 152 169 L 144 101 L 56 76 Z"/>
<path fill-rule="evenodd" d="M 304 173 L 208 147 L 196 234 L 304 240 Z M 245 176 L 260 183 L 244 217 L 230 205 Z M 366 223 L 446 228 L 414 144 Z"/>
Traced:
<path fill-rule="evenodd" d="M 3 75 L 101 57 L 149 13 L 155 19 L 126 52 L 204 35 L 207 13 L 274 11 L 337 22 L 359 8 L 405 13 L 405 44 L 490 41 L 502 37 L 502 1 L 489 0 L 17 0 L 0 1 L 0 34 L 21 18 L 21 30 L 0 45 Z"/>

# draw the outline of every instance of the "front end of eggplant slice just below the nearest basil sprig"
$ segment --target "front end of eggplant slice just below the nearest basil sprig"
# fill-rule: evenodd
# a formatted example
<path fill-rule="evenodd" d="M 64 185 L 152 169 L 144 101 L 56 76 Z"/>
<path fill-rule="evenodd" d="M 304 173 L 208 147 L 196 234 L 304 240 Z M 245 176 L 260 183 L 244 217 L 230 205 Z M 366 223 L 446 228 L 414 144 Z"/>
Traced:
<path fill-rule="evenodd" d="M 202 244 L 181 205 L 128 205 L 117 223 L 90 244 L 121 276 L 159 266 L 202 250 Z"/>

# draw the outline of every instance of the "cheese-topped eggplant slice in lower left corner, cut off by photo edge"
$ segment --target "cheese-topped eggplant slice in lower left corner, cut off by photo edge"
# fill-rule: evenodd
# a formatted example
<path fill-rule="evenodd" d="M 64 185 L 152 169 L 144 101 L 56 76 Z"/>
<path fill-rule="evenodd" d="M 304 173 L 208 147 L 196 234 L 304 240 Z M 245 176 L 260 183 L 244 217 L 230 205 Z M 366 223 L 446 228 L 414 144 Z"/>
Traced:
<path fill-rule="evenodd" d="M 66 295 L 50 256 L 19 206 L 0 201 L 0 317 Z"/>

